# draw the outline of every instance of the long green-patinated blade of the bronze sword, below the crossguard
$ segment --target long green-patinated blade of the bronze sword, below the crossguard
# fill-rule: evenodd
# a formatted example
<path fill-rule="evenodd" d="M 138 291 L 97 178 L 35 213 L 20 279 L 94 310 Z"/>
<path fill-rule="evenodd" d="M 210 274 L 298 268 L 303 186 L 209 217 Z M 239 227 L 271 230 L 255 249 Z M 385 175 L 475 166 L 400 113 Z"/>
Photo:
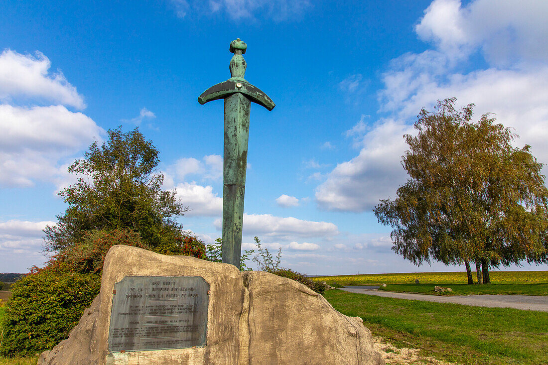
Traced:
<path fill-rule="evenodd" d="M 239 268 L 243 200 L 246 190 L 250 100 L 241 93 L 225 98 L 222 191 L 222 262 Z"/>

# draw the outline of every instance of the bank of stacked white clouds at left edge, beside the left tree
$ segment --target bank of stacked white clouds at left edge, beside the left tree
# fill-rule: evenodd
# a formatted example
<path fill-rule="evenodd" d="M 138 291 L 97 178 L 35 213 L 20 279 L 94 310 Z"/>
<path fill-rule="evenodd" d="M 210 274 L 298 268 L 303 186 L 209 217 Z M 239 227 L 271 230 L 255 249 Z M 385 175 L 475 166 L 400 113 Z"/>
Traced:
<path fill-rule="evenodd" d="M 50 73 L 51 66 L 40 52 L 0 54 L 2 186 L 64 185 L 67 160 L 104 133 L 88 116 L 67 109 L 83 109 L 83 98 L 60 71 Z M 57 105 L 40 105 L 47 103 Z"/>

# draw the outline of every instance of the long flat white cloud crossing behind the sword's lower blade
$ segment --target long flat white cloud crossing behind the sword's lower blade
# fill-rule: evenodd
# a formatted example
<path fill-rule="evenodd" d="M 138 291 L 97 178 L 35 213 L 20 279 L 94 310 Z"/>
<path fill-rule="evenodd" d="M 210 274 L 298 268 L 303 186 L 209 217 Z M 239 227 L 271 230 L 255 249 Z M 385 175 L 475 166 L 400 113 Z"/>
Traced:
<path fill-rule="evenodd" d="M 220 229 L 221 220 L 216 219 L 214 225 Z M 244 213 L 243 234 L 251 237 L 276 237 L 285 241 L 296 241 L 297 237 L 333 237 L 339 234 L 339 230 L 336 225 L 328 222 L 302 220 L 292 216 Z"/>

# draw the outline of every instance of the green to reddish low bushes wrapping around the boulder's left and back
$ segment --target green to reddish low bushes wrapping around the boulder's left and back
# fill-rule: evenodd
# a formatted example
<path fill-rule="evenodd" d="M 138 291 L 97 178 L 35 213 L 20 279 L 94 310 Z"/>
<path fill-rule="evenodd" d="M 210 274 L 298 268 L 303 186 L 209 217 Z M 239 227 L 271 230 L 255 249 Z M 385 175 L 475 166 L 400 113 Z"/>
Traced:
<path fill-rule="evenodd" d="M 52 256 L 45 267 L 33 267 L 30 275 L 13 284 L 0 353 L 33 355 L 67 338 L 99 293 L 105 256 L 115 244 L 150 249 L 139 233 L 131 230 L 85 232 L 70 248 Z M 153 250 L 205 259 L 205 248 L 202 241 L 183 233 L 175 242 Z"/>

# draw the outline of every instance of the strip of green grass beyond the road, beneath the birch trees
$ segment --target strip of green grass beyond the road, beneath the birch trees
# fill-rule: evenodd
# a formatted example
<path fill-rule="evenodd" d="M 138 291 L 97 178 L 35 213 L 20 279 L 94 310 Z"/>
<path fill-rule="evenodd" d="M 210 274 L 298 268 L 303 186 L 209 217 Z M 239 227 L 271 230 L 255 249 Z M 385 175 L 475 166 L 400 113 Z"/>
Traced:
<path fill-rule="evenodd" d="M 438 284 L 450 287 L 451 293 L 434 292 L 435 284 L 388 284 L 380 290 L 401 293 L 420 293 L 432 295 L 480 295 L 480 294 L 517 294 L 517 295 L 548 295 L 548 284 Z"/>

